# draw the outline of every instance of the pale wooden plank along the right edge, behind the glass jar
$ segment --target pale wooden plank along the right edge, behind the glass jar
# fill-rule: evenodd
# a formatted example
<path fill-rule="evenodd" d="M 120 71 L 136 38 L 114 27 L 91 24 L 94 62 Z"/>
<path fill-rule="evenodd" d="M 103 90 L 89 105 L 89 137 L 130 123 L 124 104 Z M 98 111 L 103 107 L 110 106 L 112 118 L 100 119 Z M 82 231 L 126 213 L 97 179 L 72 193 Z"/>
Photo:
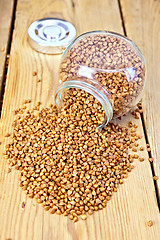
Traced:
<path fill-rule="evenodd" d="M 152 150 L 153 166 L 158 176 L 160 196 L 160 2 L 152 0 L 121 1 L 129 38 L 142 50 L 147 65 L 147 83 L 143 98 L 144 120 Z"/>

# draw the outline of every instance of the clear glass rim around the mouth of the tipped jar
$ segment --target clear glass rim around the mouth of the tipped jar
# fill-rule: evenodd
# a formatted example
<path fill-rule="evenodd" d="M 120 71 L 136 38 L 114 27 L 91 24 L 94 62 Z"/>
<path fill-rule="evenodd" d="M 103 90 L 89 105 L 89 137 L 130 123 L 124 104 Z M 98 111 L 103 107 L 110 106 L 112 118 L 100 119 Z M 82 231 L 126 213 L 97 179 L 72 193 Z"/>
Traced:
<path fill-rule="evenodd" d="M 55 102 L 59 109 L 63 107 L 63 93 L 65 89 L 69 88 L 84 90 L 85 92 L 90 93 L 101 103 L 105 115 L 102 124 L 98 125 L 97 128 L 104 128 L 113 117 L 113 109 L 111 102 L 109 101 L 110 93 L 107 92 L 103 85 L 97 83 L 94 79 L 82 79 L 82 77 L 79 77 L 77 79 L 68 80 L 59 85 L 55 93 Z"/>

